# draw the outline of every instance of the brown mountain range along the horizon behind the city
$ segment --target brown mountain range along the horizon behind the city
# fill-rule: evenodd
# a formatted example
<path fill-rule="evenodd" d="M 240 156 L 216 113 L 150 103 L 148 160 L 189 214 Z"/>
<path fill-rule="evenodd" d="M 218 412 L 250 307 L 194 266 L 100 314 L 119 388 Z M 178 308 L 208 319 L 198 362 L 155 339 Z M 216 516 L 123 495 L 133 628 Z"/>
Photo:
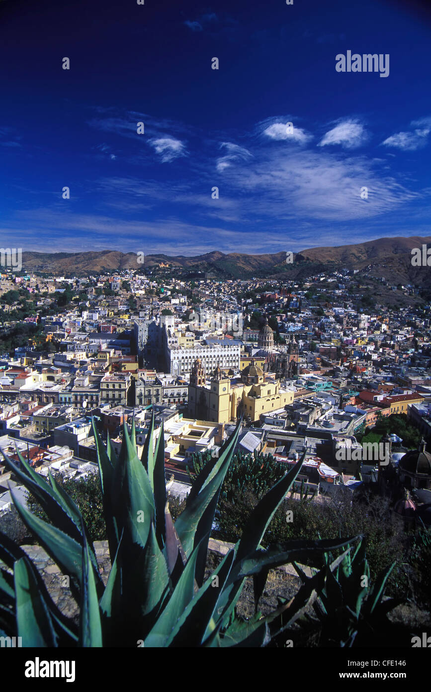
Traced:
<path fill-rule="evenodd" d="M 364 243 L 336 247 L 309 248 L 294 253 L 291 264 L 286 262 L 286 251 L 248 255 L 224 254 L 213 251 L 195 257 L 157 254 L 146 255 L 138 262 L 137 253 L 98 251 L 81 253 L 22 253 L 26 271 L 52 273 L 64 276 L 82 276 L 88 273 L 113 273 L 126 268 L 164 271 L 163 265 L 178 268 L 184 275 L 198 276 L 211 272 L 218 279 L 228 278 L 306 278 L 334 268 L 356 269 L 361 275 L 385 277 L 392 284 L 431 286 L 431 267 L 412 266 L 412 248 L 431 247 L 431 236 L 379 238 Z"/>

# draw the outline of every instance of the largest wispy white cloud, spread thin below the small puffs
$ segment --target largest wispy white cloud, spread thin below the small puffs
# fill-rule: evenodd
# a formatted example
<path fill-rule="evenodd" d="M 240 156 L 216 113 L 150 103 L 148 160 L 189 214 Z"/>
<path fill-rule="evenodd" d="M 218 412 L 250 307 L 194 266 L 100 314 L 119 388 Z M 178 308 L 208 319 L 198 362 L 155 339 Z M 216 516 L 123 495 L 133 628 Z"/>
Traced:
<path fill-rule="evenodd" d="M 368 219 L 421 197 L 385 173 L 381 162 L 365 156 L 271 149 L 226 173 L 231 194 L 238 195 L 238 215 L 249 219 L 253 199 L 253 217 L 273 219 L 273 224 L 298 218 Z M 364 187 L 366 200 L 361 198 Z"/>

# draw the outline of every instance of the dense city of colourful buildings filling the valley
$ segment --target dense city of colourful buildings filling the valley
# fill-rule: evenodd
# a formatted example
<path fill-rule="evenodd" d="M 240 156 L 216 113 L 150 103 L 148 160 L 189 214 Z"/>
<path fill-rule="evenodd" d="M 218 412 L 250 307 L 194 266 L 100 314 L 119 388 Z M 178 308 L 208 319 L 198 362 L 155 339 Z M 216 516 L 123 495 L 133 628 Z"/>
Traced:
<path fill-rule="evenodd" d="M 325 303 L 317 304 L 323 280 Z M 161 282 L 130 270 L 14 281 L 41 296 L 40 313 L 27 320 L 43 329 L 46 347 L 30 339 L 0 354 L 0 446 L 15 455 L 17 444 L 40 473 L 95 471 L 92 418 L 115 447 L 134 416 L 144 444 L 153 409 L 164 420 L 166 468 L 182 481 L 191 455 L 217 453 L 239 419 L 242 450 L 286 464 L 307 450 L 304 477 L 320 492 L 385 485 L 379 459 L 364 464 L 352 454 L 355 435 L 380 415 L 407 415 L 424 445 L 431 441 L 429 320 L 414 307 L 354 307 L 352 273 L 302 283 L 211 275 Z M 11 288 L 2 275 L 1 294 Z M 73 309 L 49 314 L 52 294 L 66 289 L 77 294 Z M 410 491 L 425 491 L 417 503 L 426 509 L 425 446 L 417 468 L 412 452 L 403 468 L 402 439 L 388 444 L 388 466 Z M 10 509 L 9 479 L 0 462 L 0 515 Z"/>

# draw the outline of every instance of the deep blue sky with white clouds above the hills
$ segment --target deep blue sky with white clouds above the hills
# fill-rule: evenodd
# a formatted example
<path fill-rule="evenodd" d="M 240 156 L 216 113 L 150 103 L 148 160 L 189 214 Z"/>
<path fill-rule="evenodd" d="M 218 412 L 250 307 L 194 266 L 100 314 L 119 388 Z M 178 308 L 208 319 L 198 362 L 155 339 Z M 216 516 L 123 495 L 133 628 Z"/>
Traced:
<path fill-rule="evenodd" d="M 431 235 L 421 3 L 6 0 L 0 37 L 3 247 L 195 255 Z M 348 50 L 389 54 L 389 76 L 338 73 Z"/>

